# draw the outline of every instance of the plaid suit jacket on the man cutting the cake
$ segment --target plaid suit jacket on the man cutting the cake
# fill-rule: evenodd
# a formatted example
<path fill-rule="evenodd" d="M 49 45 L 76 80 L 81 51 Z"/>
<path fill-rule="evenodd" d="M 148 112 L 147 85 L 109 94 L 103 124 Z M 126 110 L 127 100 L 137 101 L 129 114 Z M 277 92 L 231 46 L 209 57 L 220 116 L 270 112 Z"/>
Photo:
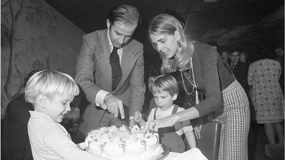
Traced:
<path fill-rule="evenodd" d="M 121 57 L 122 78 L 117 89 L 112 91 L 111 50 L 107 30 L 83 35 L 77 56 L 75 81 L 89 102 L 80 125 L 84 134 L 89 129 L 97 128 L 105 112 L 95 105 L 95 97 L 101 89 L 123 101 L 124 107 L 128 107 L 129 116 L 134 116 L 137 110 L 141 112 L 144 102 L 143 45 L 133 38 L 124 45 Z"/>

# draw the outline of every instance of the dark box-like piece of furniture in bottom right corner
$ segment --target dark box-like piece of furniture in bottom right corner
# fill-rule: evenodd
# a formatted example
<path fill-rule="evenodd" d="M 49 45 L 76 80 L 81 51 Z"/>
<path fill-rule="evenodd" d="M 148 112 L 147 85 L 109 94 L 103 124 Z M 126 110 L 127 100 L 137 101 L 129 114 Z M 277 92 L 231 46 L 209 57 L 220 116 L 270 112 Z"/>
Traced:
<path fill-rule="evenodd" d="M 272 159 L 284 160 L 284 144 L 265 145 L 265 154 Z"/>

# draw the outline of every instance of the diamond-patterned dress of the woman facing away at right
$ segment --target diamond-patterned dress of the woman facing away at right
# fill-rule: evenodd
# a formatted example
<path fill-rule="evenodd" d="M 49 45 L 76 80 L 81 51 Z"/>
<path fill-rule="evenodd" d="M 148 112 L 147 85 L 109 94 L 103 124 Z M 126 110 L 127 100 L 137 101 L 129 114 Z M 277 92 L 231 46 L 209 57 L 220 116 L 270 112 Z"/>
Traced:
<path fill-rule="evenodd" d="M 250 64 L 248 85 L 257 123 L 281 122 L 284 119 L 284 98 L 279 84 L 281 66 L 278 61 L 261 59 Z"/>

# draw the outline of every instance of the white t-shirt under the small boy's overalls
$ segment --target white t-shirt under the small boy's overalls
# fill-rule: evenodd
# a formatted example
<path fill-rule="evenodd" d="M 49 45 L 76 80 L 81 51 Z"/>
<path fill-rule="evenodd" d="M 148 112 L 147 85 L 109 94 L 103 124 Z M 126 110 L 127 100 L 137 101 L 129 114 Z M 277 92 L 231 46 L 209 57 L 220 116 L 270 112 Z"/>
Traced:
<path fill-rule="evenodd" d="M 171 113 L 172 113 L 173 108 L 174 108 L 174 105 L 171 106 L 170 108 L 168 108 L 168 110 L 165 110 L 165 111 L 162 111 L 160 108 L 157 108 L 157 110 L 156 110 L 156 119 L 164 118 L 164 117 L 170 116 Z M 153 120 L 155 109 L 156 109 L 156 108 L 153 108 L 153 109 L 150 111 L 150 115 L 148 116 L 147 121 L 152 121 L 152 120 Z M 177 112 L 180 112 L 180 111 L 183 111 L 183 110 L 185 110 L 185 109 L 184 109 L 184 108 L 181 108 L 181 107 L 178 107 Z M 193 127 L 192 127 L 192 125 L 191 125 L 190 120 L 186 120 L 186 121 L 182 121 L 182 122 L 177 122 L 177 123 L 174 124 L 174 127 L 175 127 L 176 133 L 177 133 L 179 136 L 182 135 L 183 133 L 187 132 L 187 131 L 192 131 L 192 130 L 193 130 Z"/>

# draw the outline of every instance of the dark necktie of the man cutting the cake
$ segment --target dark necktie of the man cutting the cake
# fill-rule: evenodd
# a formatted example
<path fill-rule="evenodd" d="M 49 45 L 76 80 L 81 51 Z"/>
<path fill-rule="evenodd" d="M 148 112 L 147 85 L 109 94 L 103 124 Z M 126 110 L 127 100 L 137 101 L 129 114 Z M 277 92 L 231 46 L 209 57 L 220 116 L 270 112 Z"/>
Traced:
<path fill-rule="evenodd" d="M 110 64 L 112 66 L 112 89 L 113 91 L 117 88 L 122 78 L 122 69 L 120 66 L 120 58 L 119 58 L 117 50 L 118 48 L 114 47 L 110 55 Z"/>

